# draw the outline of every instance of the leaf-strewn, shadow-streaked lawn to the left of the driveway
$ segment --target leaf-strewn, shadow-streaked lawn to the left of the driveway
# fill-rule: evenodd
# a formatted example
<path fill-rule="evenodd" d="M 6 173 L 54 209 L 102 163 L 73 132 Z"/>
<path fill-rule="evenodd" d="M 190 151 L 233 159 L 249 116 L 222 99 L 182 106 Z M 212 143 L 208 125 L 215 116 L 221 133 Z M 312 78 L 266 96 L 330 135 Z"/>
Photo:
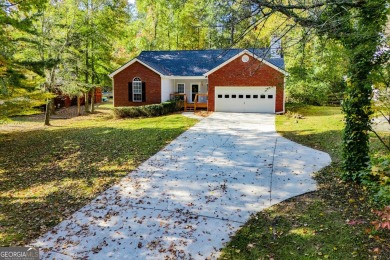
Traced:
<path fill-rule="evenodd" d="M 51 127 L 36 117 L 0 127 L 0 246 L 45 233 L 196 122 L 114 120 L 103 110 Z"/>

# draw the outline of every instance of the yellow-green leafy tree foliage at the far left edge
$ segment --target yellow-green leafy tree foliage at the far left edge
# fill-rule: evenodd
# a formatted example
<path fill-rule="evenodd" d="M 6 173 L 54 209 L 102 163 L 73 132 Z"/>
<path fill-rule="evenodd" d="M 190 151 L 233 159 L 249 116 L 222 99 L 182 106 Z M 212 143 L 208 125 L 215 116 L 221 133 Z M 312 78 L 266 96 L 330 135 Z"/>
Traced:
<path fill-rule="evenodd" d="M 41 105 L 48 97 L 31 66 L 18 56 L 31 36 L 33 22 L 44 0 L 0 0 L 0 117 L 7 117 Z"/>

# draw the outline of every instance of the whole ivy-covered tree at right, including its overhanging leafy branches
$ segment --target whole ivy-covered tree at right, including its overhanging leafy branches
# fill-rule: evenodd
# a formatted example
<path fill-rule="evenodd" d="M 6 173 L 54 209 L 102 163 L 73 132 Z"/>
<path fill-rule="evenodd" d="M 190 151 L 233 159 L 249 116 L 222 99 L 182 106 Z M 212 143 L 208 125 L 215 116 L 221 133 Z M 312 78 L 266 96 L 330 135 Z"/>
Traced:
<path fill-rule="evenodd" d="M 254 14 L 278 12 L 316 35 L 339 42 L 349 59 L 343 111 L 344 179 L 359 182 L 368 167 L 371 110 L 370 73 L 387 21 L 387 0 L 251 0 Z"/>

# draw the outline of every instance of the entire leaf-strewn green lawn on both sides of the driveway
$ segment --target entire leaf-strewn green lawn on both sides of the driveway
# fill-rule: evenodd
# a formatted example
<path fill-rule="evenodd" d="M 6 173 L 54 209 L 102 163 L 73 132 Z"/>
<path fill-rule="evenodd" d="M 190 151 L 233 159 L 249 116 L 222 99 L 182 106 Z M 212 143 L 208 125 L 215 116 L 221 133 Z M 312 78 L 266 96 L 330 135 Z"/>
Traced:
<path fill-rule="evenodd" d="M 18 117 L 0 126 L 0 246 L 25 245 L 137 167 L 195 123 L 181 115 L 114 120 L 97 114 L 53 120 Z M 339 180 L 339 108 L 293 106 L 280 134 L 330 153 L 320 189 L 259 212 L 222 259 L 388 259 L 389 232 L 375 231 L 370 194 Z M 303 118 L 302 118 L 303 116 Z M 373 152 L 385 154 L 376 141 Z"/>

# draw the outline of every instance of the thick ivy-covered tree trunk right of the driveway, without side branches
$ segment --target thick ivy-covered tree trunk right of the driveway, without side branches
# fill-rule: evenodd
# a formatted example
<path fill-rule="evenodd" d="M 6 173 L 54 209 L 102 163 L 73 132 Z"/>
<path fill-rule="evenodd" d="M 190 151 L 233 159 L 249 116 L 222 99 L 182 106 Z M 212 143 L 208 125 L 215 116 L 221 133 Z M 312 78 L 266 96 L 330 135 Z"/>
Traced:
<path fill-rule="evenodd" d="M 346 125 L 343 134 L 344 170 L 342 177 L 346 180 L 361 182 L 362 171 L 369 167 L 371 129 L 370 116 L 372 81 L 369 76 L 377 64 L 373 63 L 380 43 L 381 23 L 385 23 L 383 12 L 386 1 L 363 2 L 357 10 L 358 30 L 347 37 L 341 37 L 344 47 L 350 56 L 347 96 L 343 104 Z M 373 19 L 372 17 L 375 17 Z M 363 34 L 361 32 L 364 32 Z"/>

